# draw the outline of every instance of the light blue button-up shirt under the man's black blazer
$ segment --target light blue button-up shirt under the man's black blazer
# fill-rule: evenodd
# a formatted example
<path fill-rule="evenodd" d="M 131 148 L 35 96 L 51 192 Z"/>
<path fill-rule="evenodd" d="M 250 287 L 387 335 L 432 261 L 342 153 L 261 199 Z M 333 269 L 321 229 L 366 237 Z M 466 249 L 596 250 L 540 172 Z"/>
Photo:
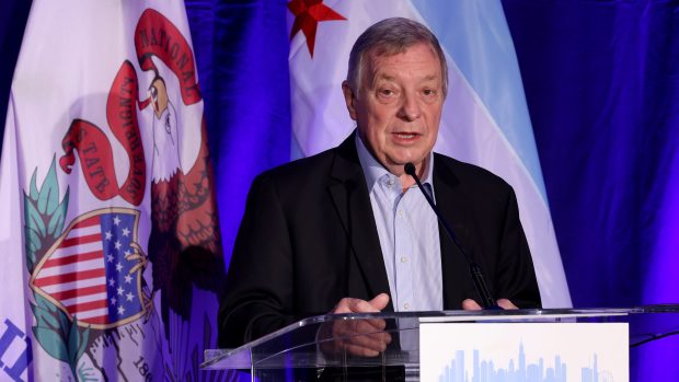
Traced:
<path fill-rule="evenodd" d="M 356 149 L 370 194 L 382 247 L 391 299 L 396 312 L 440 311 L 444 308 L 438 220 L 424 195 L 382 166 L 356 135 Z M 434 154 L 422 183 L 434 197 Z"/>

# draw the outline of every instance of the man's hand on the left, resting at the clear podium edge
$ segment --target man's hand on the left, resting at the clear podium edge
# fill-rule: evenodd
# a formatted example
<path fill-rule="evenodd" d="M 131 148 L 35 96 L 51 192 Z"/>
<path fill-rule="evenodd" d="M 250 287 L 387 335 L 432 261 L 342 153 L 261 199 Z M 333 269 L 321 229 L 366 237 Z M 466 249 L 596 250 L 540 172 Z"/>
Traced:
<path fill-rule="evenodd" d="M 344 298 L 330 314 L 379 313 L 389 303 L 389 294 L 381 293 L 370 301 Z M 347 351 L 354 356 L 376 357 L 387 349 L 391 335 L 382 331 L 384 320 L 336 320 L 321 327 L 319 339 L 326 356 Z M 332 338 L 332 340 L 331 340 Z"/>

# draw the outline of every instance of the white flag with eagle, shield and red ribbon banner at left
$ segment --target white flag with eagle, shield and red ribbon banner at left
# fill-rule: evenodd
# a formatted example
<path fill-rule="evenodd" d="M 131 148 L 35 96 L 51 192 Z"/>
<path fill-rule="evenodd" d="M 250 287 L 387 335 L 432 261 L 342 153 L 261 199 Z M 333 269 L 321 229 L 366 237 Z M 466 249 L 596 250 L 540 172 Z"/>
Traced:
<path fill-rule="evenodd" d="M 227 378 L 184 4 L 33 1 L 4 132 L 0 380 Z"/>

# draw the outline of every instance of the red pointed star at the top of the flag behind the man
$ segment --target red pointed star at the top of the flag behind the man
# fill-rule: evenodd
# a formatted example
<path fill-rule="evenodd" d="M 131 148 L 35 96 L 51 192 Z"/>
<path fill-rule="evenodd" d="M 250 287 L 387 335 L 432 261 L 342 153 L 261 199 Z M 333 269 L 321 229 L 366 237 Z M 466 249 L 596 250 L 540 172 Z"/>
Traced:
<path fill-rule="evenodd" d="M 307 36 L 307 47 L 311 57 L 313 57 L 315 30 L 319 23 L 330 20 L 346 20 L 342 14 L 325 5 L 323 0 L 292 0 L 288 2 L 288 9 L 295 15 L 290 39 L 295 37 L 297 32 L 302 31 Z"/>

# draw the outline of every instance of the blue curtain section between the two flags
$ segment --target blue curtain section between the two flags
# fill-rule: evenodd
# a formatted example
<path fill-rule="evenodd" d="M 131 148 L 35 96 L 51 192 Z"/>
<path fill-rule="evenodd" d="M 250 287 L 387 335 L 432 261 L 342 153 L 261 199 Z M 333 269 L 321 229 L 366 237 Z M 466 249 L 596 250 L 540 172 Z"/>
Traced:
<path fill-rule="evenodd" d="M 230 258 L 252 180 L 290 160 L 287 2 L 185 3 Z"/>

